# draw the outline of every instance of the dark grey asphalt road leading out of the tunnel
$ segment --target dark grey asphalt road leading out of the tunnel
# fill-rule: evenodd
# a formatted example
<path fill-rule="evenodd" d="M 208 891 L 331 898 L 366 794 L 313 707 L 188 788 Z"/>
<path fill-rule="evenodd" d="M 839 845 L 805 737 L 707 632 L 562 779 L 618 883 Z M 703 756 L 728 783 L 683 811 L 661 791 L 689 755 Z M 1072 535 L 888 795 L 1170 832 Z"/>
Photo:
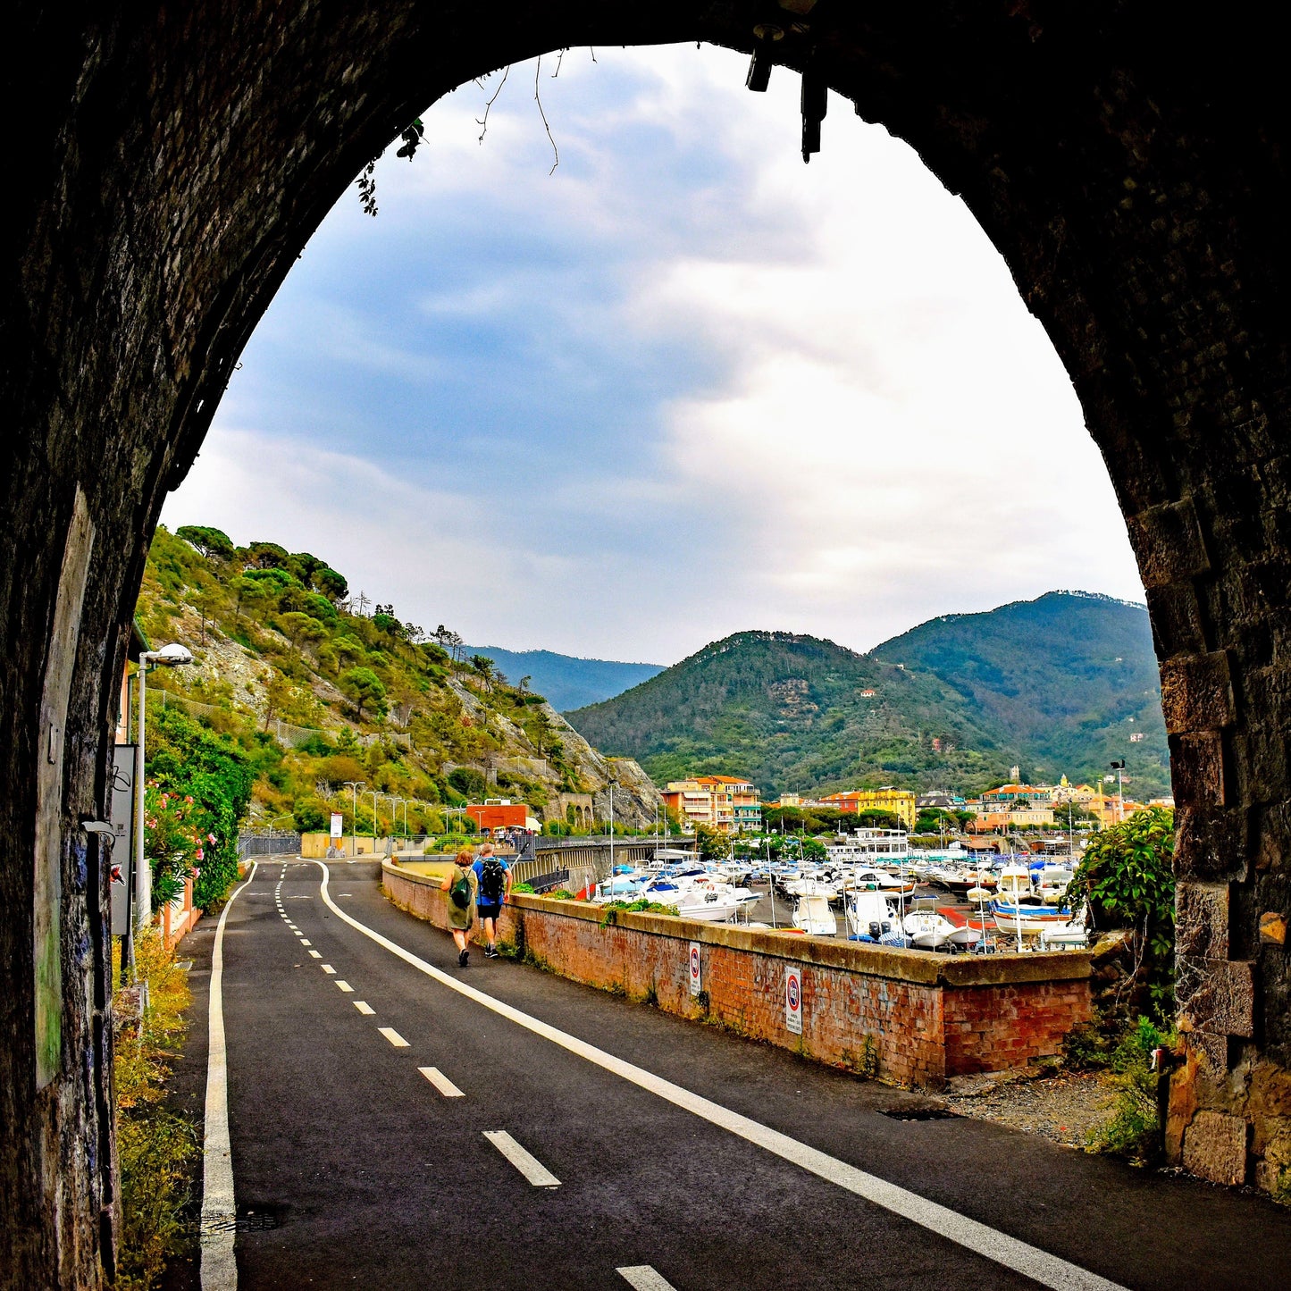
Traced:
<path fill-rule="evenodd" d="M 376 866 L 330 874 L 351 918 L 538 1025 L 1004 1237 L 998 1259 L 968 1250 L 944 1235 L 954 1216 L 900 1217 L 500 1016 L 333 914 L 319 865 L 271 860 L 223 940 L 244 1288 L 1034 1286 L 1007 1238 L 1128 1287 L 1287 1286 L 1291 1214 L 1261 1197 L 985 1122 L 895 1119 L 919 1097 L 478 950 L 460 971 Z M 183 944 L 195 1106 L 214 932 Z M 531 1183 L 500 1132 L 559 1185 Z M 618 1272 L 643 1268 L 664 1281 Z"/>

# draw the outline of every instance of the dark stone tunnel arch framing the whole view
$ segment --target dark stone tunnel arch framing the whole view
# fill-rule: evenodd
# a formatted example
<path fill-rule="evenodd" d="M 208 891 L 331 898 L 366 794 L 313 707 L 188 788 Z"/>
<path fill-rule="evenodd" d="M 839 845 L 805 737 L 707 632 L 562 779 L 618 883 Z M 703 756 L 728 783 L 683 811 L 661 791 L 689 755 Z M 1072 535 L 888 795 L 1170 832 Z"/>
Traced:
<path fill-rule="evenodd" d="M 363 164 L 453 86 L 571 45 L 700 40 L 849 98 L 959 192 L 1082 402 L 1162 660 L 1180 803 L 1172 1149 L 1291 1161 L 1288 256 L 1273 43 L 1092 0 L 107 4 L 10 15 L 0 293 L 0 1282 L 111 1264 L 103 813 L 165 491 Z M 777 72 L 785 75 L 785 72 Z M 809 96 L 808 96 L 809 98 Z M 826 139 L 828 146 L 828 139 Z"/>

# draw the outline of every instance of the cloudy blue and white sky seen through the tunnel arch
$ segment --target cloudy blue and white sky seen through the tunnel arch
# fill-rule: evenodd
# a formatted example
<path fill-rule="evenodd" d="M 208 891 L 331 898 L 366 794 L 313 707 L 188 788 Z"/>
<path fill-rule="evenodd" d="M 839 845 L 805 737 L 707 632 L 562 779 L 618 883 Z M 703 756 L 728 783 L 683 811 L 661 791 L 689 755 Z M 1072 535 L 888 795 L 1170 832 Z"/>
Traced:
<path fill-rule="evenodd" d="M 963 204 L 798 77 L 571 50 L 425 116 L 256 330 L 164 523 L 310 550 L 473 644 L 866 649 L 1053 587 L 1141 600 L 1039 324 Z"/>

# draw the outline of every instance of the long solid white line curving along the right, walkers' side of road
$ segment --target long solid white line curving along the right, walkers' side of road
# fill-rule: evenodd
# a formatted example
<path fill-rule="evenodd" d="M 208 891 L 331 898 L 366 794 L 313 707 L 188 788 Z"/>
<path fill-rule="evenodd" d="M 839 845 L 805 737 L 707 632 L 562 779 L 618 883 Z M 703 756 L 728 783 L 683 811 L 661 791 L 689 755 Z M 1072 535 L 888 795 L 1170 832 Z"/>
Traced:
<path fill-rule="evenodd" d="M 425 959 L 420 959 L 411 950 L 404 950 L 396 941 L 391 941 L 367 924 L 360 923 L 352 915 L 346 914 L 328 895 L 327 866 L 320 861 L 315 861 L 314 864 L 323 870 L 320 895 L 334 915 L 343 919 L 350 927 L 356 928 L 365 937 L 376 941 L 377 945 L 385 946 L 392 955 L 398 955 L 404 963 L 412 964 L 413 968 L 423 972 L 427 977 L 432 977 L 442 985 L 448 986 L 449 990 L 456 990 L 467 999 L 474 999 L 475 1003 L 483 1004 L 485 1008 L 492 1010 L 501 1017 L 509 1019 L 518 1026 L 523 1026 L 534 1035 L 541 1035 L 544 1039 L 551 1041 L 553 1044 L 559 1044 L 571 1053 L 577 1053 L 578 1057 L 586 1059 L 589 1062 L 594 1062 L 607 1072 L 613 1072 L 615 1075 L 621 1077 L 629 1083 L 648 1090 L 674 1106 L 691 1112 L 710 1124 L 728 1130 L 737 1137 L 757 1144 L 759 1148 L 764 1148 L 784 1161 L 793 1162 L 793 1164 L 799 1166 L 808 1174 L 816 1175 L 818 1179 L 837 1184 L 839 1188 L 855 1193 L 857 1197 L 862 1197 L 875 1206 L 882 1206 L 893 1215 L 900 1215 L 913 1224 L 931 1229 L 933 1233 L 939 1233 L 941 1237 L 955 1242 L 966 1250 L 984 1255 L 988 1260 L 994 1260 L 997 1264 L 1003 1264 L 1004 1268 L 1033 1278 L 1042 1286 L 1053 1288 L 1053 1291 L 1123 1291 L 1119 1283 L 1110 1282 L 1108 1278 L 1100 1277 L 1097 1273 L 1091 1273 L 1088 1269 L 1082 1269 L 1078 1264 L 1072 1264 L 1056 1255 L 1050 1255 L 1048 1251 L 1042 1251 L 1037 1246 L 1030 1246 L 1016 1237 L 1010 1237 L 1007 1233 L 1001 1233 L 986 1224 L 970 1219 L 967 1215 L 961 1215 L 959 1211 L 950 1210 L 949 1206 L 928 1201 L 918 1193 L 911 1193 L 896 1184 L 889 1184 L 886 1179 L 879 1179 L 877 1175 L 870 1175 L 856 1166 L 849 1166 L 846 1161 L 839 1161 L 837 1157 L 830 1157 L 816 1148 L 809 1148 L 807 1144 L 799 1143 L 797 1139 L 790 1139 L 789 1135 L 781 1133 L 778 1130 L 772 1130 L 769 1126 L 764 1126 L 759 1121 L 753 1121 L 750 1117 L 740 1115 L 738 1112 L 723 1108 L 719 1103 L 713 1103 L 710 1099 L 701 1097 L 698 1093 L 692 1093 L 689 1090 L 674 1084 L 671 1081 L 665 1081 L 662 1077 L 655 1075 L 653 1072 L 647 1072 L 633 1062 L 625 1062 L 622 1059 L 615 1057 L 613 1053 L 607 1053 L 604 1050 L 599 1050 L 594 1044 L 578 1039 L 577 1035 L 569 1035 L 567 1032 L 550 1026 L 547 1022 L 540 1021 L 537 1017 L 532 1017 L 519 1008 L 503 1004 L 502 1001 L 494 999 L 492 995 L 485 995 L 484 991 L 478 990 L 475 986 L 467 986 L 434 964 L 426 963 Z"/>

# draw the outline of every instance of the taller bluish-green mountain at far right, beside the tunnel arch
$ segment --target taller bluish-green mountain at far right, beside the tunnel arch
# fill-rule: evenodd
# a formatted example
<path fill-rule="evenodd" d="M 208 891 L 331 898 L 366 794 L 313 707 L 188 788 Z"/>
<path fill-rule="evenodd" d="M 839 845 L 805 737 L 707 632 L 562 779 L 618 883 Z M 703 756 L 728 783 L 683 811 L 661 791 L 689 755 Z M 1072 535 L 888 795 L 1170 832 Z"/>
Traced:
<path fill-rule="evenodd" d="M 1132 793 L 1170 791 L 1161 675 L 1143 605 L 1051 591 L 980 615 L 930 620 L 871 658 L 924 669 L 968 701 L 1039 778 L 1126 759 Z M 1130 741 L 1132 733 L 1141 740 Z"/>

